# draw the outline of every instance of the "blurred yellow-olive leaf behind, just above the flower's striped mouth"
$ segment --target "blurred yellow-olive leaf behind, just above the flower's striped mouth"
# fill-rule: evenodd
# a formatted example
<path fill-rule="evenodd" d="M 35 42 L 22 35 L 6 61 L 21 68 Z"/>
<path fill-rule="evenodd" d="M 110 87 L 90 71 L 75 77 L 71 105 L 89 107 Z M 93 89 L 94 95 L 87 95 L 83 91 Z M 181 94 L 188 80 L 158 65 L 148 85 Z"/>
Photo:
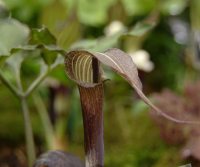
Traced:
<path fill-rule="evenodd" d="M 69 10 L 62 2 L 54 1 L 42 13 L 42 24 L 56 37 L 57 45 L 64 49 L 69 48 L 81 35 L 76 12 L 69 13 Z"/>

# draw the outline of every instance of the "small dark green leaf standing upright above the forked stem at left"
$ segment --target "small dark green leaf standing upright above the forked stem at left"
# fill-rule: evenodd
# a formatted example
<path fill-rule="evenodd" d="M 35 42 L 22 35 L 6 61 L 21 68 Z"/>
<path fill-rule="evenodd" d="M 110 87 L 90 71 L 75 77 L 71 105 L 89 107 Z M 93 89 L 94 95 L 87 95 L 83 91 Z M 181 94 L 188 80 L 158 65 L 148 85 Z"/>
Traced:
<path fill-rule="evenodd" d="M 32 45 L 55 45 L 56 38 L 50 33 L 50 31 L 47 28 L 42 27 L 40 29 L 31 30 L 31 37 L 29 43 Z"/>

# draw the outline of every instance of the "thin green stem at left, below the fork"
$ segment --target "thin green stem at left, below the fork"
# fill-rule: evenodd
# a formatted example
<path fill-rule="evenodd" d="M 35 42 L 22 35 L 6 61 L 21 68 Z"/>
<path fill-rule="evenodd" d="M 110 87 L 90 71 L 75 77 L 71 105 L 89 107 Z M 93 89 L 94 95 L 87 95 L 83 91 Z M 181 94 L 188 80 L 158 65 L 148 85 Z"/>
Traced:
<path fill-rule="evenodd" d="M 34 138 L 31 126 L 30 112 L 28 110 L 28 105 L 26 98 L 21 98 L 21 106 L 24 115 L 24 126 L 25 126 L 25 137 L 26 137 L 26 151 L 28 156 L 28 166 L 32 167 L 35 161 L 35 146 Z"/>

